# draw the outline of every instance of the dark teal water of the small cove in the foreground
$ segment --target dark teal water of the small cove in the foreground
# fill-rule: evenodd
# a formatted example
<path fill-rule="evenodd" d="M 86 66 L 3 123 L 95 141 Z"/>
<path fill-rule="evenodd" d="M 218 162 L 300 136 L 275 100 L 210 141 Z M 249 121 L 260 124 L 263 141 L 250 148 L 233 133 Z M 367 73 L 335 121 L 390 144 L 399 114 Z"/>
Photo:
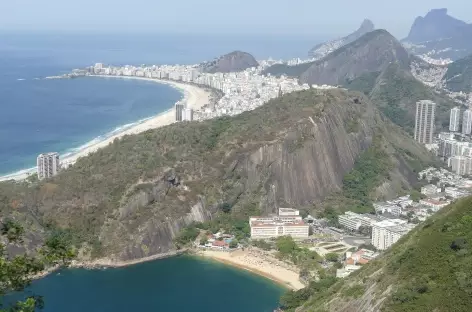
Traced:
<path fill-rule="evenodd" d="M 284 289 L 205 259 L 179 256 L 125 268 L 69 269 L 35 281 L 45 312 L 272 312 Z"/>

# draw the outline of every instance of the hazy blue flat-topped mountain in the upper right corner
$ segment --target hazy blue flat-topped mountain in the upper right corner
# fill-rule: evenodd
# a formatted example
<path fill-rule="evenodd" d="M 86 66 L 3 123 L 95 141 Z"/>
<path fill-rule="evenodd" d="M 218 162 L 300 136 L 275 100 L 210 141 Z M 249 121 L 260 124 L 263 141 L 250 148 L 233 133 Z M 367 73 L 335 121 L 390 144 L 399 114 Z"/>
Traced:
<path fill-rule="evenodd" d="M 431 10 L 415 19 L 402 43 L 414 54 L 458 60 L 472 54 L 472 24 L 448 15 L 447 9 Z"/>

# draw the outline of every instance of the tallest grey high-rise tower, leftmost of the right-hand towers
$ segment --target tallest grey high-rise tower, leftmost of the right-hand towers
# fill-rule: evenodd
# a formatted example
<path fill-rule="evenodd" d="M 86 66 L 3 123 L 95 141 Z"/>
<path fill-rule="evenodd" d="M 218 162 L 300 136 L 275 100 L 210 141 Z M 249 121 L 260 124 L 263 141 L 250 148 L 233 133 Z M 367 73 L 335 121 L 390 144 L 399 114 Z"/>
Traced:
<path fill-rule="evenodd" d="M 436 103 L 429 100 L 416 102 L 415 140 L 422 144 L 433 142 Z"/>

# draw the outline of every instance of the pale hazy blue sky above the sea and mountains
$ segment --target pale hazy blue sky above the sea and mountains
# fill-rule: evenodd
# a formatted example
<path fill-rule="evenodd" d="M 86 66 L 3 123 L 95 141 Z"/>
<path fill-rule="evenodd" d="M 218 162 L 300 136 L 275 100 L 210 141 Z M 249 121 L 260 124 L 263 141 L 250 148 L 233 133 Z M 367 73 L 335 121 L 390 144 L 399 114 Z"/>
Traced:
<path fill-rule="evenodd" d="M 399 38 L 418 15 L 471 0 L 0 0 L 0 30 L 344 35 L 364 18 Z"/>

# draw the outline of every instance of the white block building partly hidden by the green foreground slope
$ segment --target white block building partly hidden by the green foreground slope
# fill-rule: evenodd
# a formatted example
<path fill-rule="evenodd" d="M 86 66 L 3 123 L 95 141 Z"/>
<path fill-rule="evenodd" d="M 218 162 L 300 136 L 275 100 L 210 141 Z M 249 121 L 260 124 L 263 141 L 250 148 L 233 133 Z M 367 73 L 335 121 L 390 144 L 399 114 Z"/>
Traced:
<path fill-rule="evenodd" d="M 372 245 L 378 250 L 385 250 L 395 244 L 413 227 L 414 225 L 401 219 L 377 222 L 372 226 Z"/>

